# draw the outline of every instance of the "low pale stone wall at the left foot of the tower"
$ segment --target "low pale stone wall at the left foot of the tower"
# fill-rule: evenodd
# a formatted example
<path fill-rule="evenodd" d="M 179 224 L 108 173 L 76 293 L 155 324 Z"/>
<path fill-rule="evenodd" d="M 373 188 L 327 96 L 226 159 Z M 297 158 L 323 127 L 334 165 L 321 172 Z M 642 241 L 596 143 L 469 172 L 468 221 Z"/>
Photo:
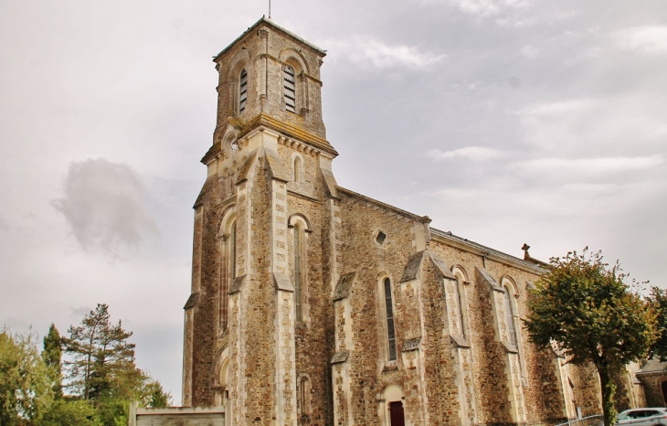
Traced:
<path fill-rule="evenodd" d="M 225 426 L 223 407 L 142 409 L 130 405 L 128 426 Z"/>

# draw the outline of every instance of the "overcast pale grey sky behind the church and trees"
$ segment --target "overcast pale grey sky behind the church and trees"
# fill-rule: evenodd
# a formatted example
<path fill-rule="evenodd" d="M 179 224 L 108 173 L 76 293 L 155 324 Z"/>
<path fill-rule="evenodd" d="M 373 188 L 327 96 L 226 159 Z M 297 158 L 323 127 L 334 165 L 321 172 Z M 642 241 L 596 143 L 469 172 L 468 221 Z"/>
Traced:
<path fill-rule="evenodd" d="M 273 0 L 328 51 L 339 185 L 514 256 L 666 286 L 667 2 Z M 0 324 L 98 303 L 181 399 L 211 57 L 268 0 L 0 0 Z"/>

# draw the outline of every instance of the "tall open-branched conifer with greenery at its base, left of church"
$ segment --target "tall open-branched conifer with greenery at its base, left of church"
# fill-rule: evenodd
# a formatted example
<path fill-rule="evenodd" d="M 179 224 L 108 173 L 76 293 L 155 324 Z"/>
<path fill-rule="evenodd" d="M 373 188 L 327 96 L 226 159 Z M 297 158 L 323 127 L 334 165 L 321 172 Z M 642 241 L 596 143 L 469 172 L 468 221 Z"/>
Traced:
<path fill-rule="evenodd" d="M 113 426 L 127 422 L 132 400 L 145 406 L 166 405 L 171 398 L 162 386 L 134 362 L 132 332 L 122 323 L 111 323 L 109 306 L 98 304 L 79 326 L 69 327 L 63 338 L 66 354 L 66 384 L 79 398 L 90 400 L 102 424 Z"/>

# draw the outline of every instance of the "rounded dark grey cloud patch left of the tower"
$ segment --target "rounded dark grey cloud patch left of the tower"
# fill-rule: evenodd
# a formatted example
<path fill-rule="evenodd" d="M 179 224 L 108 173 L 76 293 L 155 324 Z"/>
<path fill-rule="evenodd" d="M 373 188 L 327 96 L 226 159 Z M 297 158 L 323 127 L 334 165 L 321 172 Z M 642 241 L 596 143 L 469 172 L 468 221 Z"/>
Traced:
<path fill-rule="evenodd" d="M 64 185 L 65 197 L 52 204 L 84 250 L 115 253 L 138 246 L 146 234 L 157 231 L 143 184 L 128 165 L 103 158 L 75 162 Z"/>

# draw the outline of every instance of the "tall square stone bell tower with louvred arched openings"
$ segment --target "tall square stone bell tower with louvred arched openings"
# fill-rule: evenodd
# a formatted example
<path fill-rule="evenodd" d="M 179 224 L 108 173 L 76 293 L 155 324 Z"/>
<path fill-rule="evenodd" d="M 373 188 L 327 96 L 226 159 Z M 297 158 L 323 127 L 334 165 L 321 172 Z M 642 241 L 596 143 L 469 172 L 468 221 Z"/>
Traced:
<path fill-rule="evenodd" d="M 231 425 L 332 418 L 335 282 L 325 52 L 266 18 L 214 59 L 217 125 L 195 203 L 184 406 Z"/>

